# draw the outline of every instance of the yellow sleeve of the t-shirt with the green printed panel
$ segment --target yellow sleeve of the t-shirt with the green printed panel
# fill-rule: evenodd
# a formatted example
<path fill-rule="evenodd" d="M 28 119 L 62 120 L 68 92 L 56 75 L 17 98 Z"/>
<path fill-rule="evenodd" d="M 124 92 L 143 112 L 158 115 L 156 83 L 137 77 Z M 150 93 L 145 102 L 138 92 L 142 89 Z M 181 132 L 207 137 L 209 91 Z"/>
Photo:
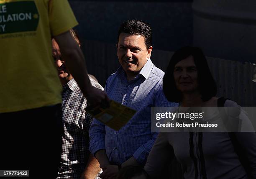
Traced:
<path fill-rule="evenodd" d="M 49 23 L 52 36 L 57 36 L 78 25 L 67 0 L 49 0 Z"/>

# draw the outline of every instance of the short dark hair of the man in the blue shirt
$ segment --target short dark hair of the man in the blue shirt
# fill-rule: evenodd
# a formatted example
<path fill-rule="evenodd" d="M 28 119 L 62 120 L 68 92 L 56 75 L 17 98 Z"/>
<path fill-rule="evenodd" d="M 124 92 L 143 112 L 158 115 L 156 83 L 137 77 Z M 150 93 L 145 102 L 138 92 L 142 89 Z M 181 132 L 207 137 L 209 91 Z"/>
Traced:
<path fill-rule="evenodd" d="M 141 20 L 126 20 L 124 21 L 118 30 L 117 43 L 119 41 L 120 33 L 130 33 L 134 35 L 141 35 L 145 38 L 145 45 L 147 49 L 152 43 L 152 29 L 147 24 Z"/>

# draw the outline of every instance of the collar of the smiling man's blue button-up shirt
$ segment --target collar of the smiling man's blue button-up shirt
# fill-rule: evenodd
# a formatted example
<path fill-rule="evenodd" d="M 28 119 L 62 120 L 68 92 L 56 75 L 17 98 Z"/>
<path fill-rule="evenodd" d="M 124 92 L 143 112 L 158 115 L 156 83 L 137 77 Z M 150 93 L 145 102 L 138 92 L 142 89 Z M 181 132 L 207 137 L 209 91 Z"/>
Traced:
<path fill-rule="evenodd" d="M 148 59 L 146 64 L 142 67 L 141 71 L 139 74 L 141 74 L 145 79 L 148 79 L 152 69 L 153 69 L 154 64 L 152 63 L 151 59 Z M 118 76 L 120 77 L 125 77 L 125 71 L 123 70 L 123 67 L 120 66 L 117 71 L 115 72 Z M 138 76 L 138 75 L 137 75 Z"/>

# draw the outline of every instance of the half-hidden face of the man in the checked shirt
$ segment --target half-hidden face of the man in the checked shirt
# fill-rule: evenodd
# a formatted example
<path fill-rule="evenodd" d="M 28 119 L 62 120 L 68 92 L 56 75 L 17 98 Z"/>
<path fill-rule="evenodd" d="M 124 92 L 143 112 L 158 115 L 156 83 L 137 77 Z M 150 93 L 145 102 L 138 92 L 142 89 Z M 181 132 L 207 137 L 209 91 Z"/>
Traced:
<path fill-rule="evenodd" d="M 69 70 L 67 69 L 65 65 L 65 61 L 62 59 L 59 45 L 54 39 L 52 40 L 52 56 L 54 58 L 55 65 L 58 70 L 61 83 L 69 82 L 73 77 L 70 74 Z"/>

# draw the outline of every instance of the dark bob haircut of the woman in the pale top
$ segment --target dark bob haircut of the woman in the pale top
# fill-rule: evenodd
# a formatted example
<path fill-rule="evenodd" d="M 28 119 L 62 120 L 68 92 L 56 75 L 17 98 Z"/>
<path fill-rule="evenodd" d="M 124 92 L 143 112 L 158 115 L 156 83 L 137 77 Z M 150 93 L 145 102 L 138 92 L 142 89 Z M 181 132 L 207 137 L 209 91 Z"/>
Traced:
<path fill-rule="evenodd" d="M 177 89 L 174 82 L 174 66 L 181 60 L 193 56 L 198 73 L 198 88 L 203 101 L 210 100 L 217 93 L 217 86 L 212 77 L 207 60 L 202 50 L 198 47 L 186 46 L 176 51 L 164 74 L 164 95 L 171 102 L 182 102 L 182 93 Z"/>

